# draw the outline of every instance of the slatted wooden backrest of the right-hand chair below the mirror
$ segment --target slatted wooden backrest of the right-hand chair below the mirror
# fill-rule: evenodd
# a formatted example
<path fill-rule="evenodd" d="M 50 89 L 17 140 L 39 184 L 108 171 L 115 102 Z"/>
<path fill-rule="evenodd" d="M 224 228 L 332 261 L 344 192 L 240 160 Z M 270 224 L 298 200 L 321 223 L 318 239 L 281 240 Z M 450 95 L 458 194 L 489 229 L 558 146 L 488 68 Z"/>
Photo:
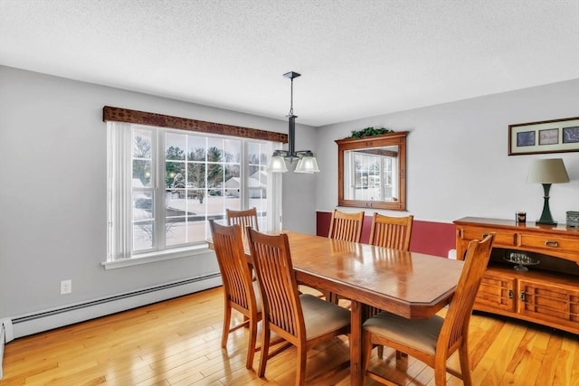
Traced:
<path fill-rule="evenodd" d="M 413 215 L 390 217 L 374 213 L 370 229 L 370 244 L 380 247 L 410 250 Z"/>

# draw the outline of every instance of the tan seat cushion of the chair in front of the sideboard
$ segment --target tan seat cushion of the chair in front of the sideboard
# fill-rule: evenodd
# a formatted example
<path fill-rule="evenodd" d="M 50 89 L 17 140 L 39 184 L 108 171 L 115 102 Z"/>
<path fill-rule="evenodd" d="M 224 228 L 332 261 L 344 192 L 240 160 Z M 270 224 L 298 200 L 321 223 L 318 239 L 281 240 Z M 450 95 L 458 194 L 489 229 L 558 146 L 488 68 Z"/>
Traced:
<path fill-rule="evenodd" d="M 363 328 L 365 332 L 384 336 L 391 341 L 434 355 L 443 322 L 444 318 L 438 315 L 430 319 L 406 319 L 381 312 L 366 320 Z"/>

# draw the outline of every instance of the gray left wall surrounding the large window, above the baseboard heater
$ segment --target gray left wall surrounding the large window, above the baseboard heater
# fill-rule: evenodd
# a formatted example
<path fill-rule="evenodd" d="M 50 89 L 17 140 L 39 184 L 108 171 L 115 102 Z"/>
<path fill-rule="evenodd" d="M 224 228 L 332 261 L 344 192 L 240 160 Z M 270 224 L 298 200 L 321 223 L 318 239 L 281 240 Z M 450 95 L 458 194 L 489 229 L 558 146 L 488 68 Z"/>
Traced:
<path fill-rule="evenodd" d="M 280 120 L 261 118 L 0 66 L 0 318 L 218 271 L 211 252 L 102 268 L 105 105 L 287 132 L 283 111 Z M 297 126 L 298 148 L 314 131 Z M 304 199 L 314 184 L 310 175 L 284 174 L 284 192 L 296 193 L 284 194 L 285 228 L 315 232 L 315 202 Z M 71 295 L 60 295 L 62 279 L 72 280 Z"/>

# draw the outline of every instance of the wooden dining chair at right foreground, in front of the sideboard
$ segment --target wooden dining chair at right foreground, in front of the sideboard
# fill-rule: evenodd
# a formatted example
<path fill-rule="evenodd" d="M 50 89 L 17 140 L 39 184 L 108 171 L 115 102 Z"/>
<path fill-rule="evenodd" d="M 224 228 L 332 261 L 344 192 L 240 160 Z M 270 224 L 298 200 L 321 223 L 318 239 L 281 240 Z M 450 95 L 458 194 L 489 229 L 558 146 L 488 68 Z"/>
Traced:
<path fill-rule="evenodd" d="M 469 386 L 469 322 L 480 281 L 490 257 L 494 233 L 483 240 L 471 240 L 467 249 L 459 282 L 445 317 L 407 319 L 381 312 L 367 319 L 362 331 L 362 352 L 365 375 L 383 384 L 393 384 L 368 369 L 375 344 L 407 353 L 434 369 L 436 386 L 446 384 L 446 372 L 460 378 Z M 460 372 L 447 366 L 447 360 L 459 351 Z"/>

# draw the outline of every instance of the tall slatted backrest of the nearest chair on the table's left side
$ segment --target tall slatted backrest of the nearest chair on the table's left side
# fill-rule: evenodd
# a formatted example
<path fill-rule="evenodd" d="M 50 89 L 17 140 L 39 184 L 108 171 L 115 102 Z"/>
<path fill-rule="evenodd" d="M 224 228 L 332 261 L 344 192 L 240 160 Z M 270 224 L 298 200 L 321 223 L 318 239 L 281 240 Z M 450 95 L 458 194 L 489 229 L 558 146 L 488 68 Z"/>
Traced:
<path fill-rule="evenodd" d="M 291 263 L 288 235 L 248 229 L 253 268 L 261 290 L 264 322 L 289 342 L 306 339 L 298 283 Z"/>

